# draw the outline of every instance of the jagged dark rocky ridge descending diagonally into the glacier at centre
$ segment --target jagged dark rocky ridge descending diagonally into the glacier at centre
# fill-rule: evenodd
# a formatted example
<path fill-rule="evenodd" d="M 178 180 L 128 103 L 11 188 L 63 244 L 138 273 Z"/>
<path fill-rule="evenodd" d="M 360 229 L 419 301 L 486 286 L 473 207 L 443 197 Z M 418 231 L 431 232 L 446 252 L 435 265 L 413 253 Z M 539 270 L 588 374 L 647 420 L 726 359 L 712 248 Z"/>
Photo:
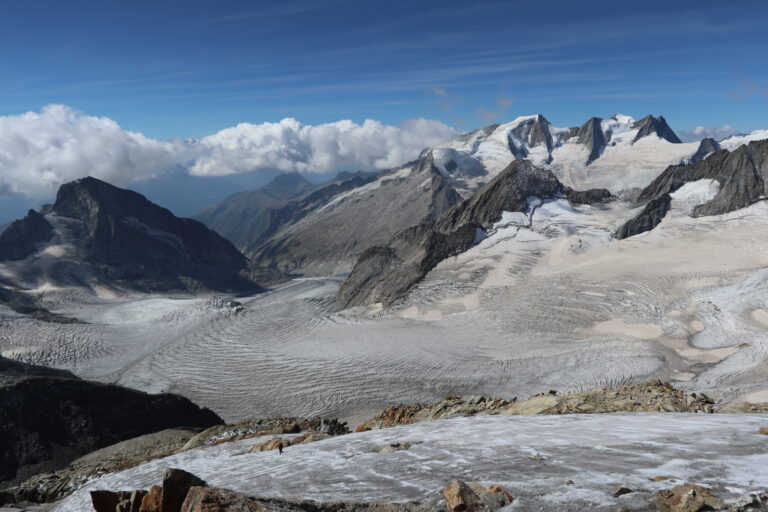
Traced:
<path fill-rule="evenodd" d="M 595 203 L 612 197 L 607 190 L 574 191 L 551 171 L 527 160 L 515 160 L 471 198 L 437 220 L 399 232 L 387 246 L 367 249 L 339 289 L 336 308 L 376 302 L 391 305 L 440 261 L 477 243 L 478 235 L 498 221 L 502 212 L 526 211 L 531 196 L 564 197 L 574 203 Z"/>

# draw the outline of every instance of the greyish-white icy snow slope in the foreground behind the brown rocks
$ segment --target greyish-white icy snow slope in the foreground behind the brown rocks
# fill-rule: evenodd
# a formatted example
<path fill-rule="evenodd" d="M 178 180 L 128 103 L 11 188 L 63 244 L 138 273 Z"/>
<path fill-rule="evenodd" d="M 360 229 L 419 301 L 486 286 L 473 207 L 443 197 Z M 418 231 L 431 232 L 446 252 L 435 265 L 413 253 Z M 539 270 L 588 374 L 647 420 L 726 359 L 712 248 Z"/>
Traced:
<path fill-rule="evenodd" d="M 615 510 L 682 482 L 718 482 L 721 495 L 768 485 L 759 415 L 609 414 L 458 418 L 350 434 L 277 452 L 255 440 L 183 452 L 89 482 L 57 512 L 81 512 L 89 490 L 149 488 L 169 467 L 211 485 L 318 501 L 437 501 L 459 478 L 500 484 L 509 510 Z M 393 442 L 419 443 L 376 453 Z M 654 476 L 675 480 L 652 482 Z M 573 480 L 573 485 L 565 485 Z M 613 498 L 612 483 L 635 493 Z"/>

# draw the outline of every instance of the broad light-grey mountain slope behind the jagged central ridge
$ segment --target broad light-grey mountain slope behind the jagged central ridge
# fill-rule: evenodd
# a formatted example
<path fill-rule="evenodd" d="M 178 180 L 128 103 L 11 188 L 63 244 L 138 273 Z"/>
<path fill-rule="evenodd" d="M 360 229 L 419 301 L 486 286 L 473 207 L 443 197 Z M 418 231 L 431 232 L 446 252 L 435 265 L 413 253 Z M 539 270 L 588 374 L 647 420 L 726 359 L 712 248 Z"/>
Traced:
<path fill-rule="evenodd" d="M 251 257 L 285 273 L 348 272 L 366 248 L 385 243 L 404 228 L 434 220 L 459 201 L 461 196 L 427 152 L 413 166 L 334 195 L 285 225 Z"/>

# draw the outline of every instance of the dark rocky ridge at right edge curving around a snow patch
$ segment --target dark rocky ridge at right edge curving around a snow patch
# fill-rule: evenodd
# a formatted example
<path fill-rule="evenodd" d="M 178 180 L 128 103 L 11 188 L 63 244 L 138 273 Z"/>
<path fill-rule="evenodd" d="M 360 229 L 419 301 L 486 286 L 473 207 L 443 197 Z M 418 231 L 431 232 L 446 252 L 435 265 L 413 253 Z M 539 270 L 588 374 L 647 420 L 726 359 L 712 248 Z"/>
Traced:
<path fill-rule="evenodd" d="M 645 209 L 616 233 L 627 238 L 656 227 L 669 211 L 669 194 L 688 182 L 717 180 L 720 190 L 711 201 L 693 209 L 692 215 L 720 215 L 749 206 L 766 196 L 768 140 L 750 142 L 734 151 L 722 150 L 701 162 L 671 165 L 645 187 L 638 204 Z M 666 198 L 666 199 L 665 199 Z"/>

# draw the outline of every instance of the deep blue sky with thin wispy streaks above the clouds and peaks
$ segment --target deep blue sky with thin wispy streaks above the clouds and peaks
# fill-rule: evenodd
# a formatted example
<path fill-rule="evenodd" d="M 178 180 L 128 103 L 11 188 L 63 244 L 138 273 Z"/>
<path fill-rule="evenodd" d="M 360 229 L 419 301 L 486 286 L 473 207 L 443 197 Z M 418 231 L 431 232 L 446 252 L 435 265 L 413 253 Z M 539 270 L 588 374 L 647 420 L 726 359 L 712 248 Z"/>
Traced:
<path fill-rule="evenodd" d="M 4 0 L 0 115 L 62 103 L 157 139 L 288 116 L 749 131 L 768 126 L 766 22 L 738 0 Z"/>

